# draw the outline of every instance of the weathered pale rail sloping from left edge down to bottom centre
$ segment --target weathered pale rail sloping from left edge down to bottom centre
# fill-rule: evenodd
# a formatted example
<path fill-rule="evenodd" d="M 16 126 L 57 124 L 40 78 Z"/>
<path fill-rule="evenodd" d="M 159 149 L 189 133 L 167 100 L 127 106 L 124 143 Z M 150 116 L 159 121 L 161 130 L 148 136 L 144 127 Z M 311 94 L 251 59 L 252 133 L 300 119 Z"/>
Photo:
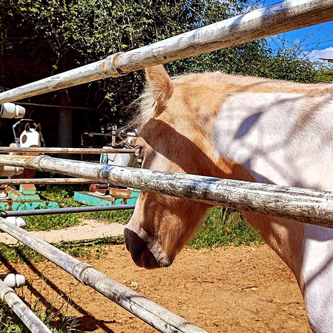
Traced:
<path fill-rule="evenodd" d="M 69 254 L 32 235 L 28 231 L 14 226 L 1 217 L 0 229 L 29 246 L 64 269 L 67 273 L 73 275 L 81 283 L 97 290 L 158 331 L 165 333 L 207 333 L 161 305 L 111 279 L 88 263 L 73 258 Z"/>

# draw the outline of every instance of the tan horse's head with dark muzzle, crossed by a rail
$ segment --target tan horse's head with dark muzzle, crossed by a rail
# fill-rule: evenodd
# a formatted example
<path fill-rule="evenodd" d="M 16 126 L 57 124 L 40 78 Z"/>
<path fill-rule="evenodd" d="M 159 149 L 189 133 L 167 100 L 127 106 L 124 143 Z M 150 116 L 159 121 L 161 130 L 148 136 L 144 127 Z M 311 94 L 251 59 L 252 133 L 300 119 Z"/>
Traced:
<path fill-rule="evenodd" d="M 160 171 L 219 175 L 207 140 L 211 119 L 209 87 L 171 79 L 162 65 L 146 69 L 147 88 L 140 103 L 136 154 L 142 167 Z M 191 238 L 211 205 L 142 191 L 125 228 L 127 249 L 147 269 L 169 266 Z"/>

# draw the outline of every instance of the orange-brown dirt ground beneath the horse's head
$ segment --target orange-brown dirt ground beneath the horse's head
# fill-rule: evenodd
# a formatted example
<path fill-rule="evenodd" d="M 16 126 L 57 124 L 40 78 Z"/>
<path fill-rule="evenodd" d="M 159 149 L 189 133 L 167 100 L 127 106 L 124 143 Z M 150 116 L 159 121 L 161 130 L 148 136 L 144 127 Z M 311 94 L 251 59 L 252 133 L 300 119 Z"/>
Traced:
<path fill-rule="evenodd" d="M 137 267 L 124 245 L 110 246 L 102 259 L 89 262 L 208 332 L 311 332 L 294 276 L 266 245 L 185 249 L 171 267 L 150 271 Z M 71 314 L 83 332 L 156 332 L 47 261 L 7 268 L 24 274 L 44 302 L 70 293 L 76 308 Z"/>

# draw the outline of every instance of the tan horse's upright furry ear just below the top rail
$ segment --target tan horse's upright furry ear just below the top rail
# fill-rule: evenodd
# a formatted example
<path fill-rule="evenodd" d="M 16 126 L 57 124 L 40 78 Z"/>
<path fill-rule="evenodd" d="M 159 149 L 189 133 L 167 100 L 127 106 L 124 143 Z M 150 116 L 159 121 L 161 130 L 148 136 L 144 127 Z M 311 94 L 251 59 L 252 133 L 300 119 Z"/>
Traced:
<path fill-rule="evenodd" d="M 170 98 L 172 82 L 163 65 L 146 68 L 146 80 L 157 100 L 165 101 Z"/>

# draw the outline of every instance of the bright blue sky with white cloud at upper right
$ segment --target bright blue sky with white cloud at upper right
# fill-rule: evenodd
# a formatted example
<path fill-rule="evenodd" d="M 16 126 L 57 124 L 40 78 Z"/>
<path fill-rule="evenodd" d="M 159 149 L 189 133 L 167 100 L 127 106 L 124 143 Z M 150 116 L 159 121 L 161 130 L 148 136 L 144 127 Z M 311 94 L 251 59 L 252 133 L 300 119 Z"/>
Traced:
<path fill-rule="evenodd" d="M 280 2 L 278 0 L 264 0 L 264 6 Z M 306 38 L 307 37 L 307 38 Z M 280 39 L 286 39 L 289 43 L 285 46 L 292 47 L 302 42 L 303 53 L 307 55 L 312 61 L 317 61 L 318 58 L 332 58 L 333 59 L 333 22 L 318 24 L 308 28 L 298 29 L 287 32 L 280 36 Z M 274 36 L 268 38 L 271 48 L 282 48 L 282 43 Z"/>

